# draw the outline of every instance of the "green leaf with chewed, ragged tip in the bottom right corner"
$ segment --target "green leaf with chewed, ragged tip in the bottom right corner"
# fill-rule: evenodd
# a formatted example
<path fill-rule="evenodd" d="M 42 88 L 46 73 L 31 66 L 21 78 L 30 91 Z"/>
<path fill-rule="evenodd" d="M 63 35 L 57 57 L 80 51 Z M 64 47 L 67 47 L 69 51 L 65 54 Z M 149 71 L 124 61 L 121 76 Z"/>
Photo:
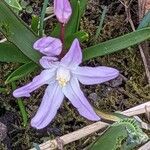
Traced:
<path fill-rule="evenodd" d="M 112 124 L 89 150 L 132 150 L 148 139 L 135 119 L 125 118 Z"/>

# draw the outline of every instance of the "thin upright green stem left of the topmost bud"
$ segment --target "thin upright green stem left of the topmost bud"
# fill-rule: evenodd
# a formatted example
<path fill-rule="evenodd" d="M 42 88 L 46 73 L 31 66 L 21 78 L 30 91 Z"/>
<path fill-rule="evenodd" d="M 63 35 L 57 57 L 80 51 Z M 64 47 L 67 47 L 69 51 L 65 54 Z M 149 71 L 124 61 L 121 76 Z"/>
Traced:
<path fill-rule="evenodd" d="M 43 3 L 41 18 L 40 18 L 40 28 L 39 28 L 39 35 L 40 36 L 43 35 L 44 17 L 45 17 L 45 12 L 46 12 L 48 2 L 49 2 L 49 0 L 44 0 L 44 3 Z"/>

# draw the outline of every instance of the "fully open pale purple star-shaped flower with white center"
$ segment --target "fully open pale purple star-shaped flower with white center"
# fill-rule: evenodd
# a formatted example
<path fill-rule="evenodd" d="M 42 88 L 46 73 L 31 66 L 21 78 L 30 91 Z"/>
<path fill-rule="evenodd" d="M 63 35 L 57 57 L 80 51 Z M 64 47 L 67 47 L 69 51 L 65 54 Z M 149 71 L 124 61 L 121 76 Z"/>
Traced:
<path fill-rule="evenodd" d="M 36 45 L 40 42 L 41 40 L 38 40 Z M 39 49 L 43 53 L 43 47 Z M 60 61 L 56 57 L 43 56 L 40 59 L 40 64 L 44 68 L 41 74 L 31 83 L 13 92 L 15 97 L 29 97 L 32 91 L 48 84 L 41 105 L 31 120 L 31 126 L 37 129 L 46 127 L 55 117 L 64 96 L 83 117 L 92 121 L 100 120 L 81 91 L 79 82 L 85 85 L 103 83 L 116 78 L 119 72 L 104 66 L 80 67 L 81 62 L 81 48 L 79 41 L 75 39 L 68 53 Z"/>

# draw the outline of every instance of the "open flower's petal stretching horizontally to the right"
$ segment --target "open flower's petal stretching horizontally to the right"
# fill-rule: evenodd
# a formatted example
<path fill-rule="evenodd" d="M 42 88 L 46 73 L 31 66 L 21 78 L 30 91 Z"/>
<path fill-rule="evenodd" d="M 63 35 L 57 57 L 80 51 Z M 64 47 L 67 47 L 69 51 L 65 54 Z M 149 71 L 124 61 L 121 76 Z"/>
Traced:
<path fill-rule="evenodd" d="M 85 85 L 103 83 L 116 78 L 119 71 L 111 67 L 77 67 L 73 71 L 77 79 Z"/>

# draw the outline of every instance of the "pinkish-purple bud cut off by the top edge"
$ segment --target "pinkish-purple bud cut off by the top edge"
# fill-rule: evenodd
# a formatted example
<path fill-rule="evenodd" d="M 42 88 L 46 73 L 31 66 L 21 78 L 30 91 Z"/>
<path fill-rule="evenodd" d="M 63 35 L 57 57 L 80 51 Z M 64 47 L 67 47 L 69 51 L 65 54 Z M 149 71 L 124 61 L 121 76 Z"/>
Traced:
<path fill-rule="evenodd" d="M 54 13 L 61 23 L 66 24 L 72 14 L 70 2 L 68 0 L 54 0 Z"/>

